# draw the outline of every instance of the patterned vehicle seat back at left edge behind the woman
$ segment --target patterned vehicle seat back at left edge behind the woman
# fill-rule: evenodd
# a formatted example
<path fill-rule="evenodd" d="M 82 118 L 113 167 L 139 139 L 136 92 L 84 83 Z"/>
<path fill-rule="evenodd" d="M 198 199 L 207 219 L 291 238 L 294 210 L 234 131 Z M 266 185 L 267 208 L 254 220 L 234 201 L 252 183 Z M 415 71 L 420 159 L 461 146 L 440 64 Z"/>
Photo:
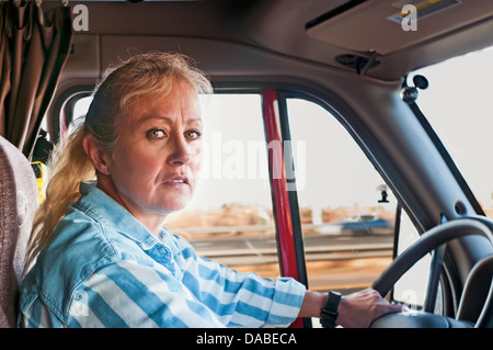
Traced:
<path fill-rule="evenodd" d="M 27 239 L 38 205 L 26 157 L 0 136 L 0 327 L 15 327 Z"/>

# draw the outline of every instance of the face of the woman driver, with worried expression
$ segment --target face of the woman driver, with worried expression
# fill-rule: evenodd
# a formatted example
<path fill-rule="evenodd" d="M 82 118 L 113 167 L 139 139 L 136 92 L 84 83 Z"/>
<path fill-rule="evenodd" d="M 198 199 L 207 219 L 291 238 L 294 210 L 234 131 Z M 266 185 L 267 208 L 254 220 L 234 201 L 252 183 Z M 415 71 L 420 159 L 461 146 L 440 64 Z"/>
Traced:
<path fill-rule="evenodd" d="M 156 227 L 190 202 L 197 183 L 203 150 L 197 93 L 174 82 L 161 99 L 138 100 L 117 129 L 108 157 L 110 192 L 116 193 L 110 195 L 148 228 Z"/>

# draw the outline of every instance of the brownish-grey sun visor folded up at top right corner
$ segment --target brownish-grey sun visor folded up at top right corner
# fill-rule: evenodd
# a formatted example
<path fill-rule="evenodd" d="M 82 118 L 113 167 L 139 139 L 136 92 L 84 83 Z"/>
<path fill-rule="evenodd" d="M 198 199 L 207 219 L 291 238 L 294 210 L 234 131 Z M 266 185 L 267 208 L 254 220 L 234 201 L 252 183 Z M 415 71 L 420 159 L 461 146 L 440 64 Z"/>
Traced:
<path fill-rule="evenodd" d="M 387 55 L 493 15 L 484 0 L 356 0 L 308 22 L 317 41 Z"/>

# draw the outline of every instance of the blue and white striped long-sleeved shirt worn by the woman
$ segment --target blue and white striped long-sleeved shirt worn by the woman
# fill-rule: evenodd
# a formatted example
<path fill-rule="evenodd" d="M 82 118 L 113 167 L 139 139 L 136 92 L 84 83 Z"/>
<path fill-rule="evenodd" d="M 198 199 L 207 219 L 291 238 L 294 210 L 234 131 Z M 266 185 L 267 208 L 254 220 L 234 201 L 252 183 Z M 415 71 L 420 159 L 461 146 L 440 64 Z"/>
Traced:
<path fill-rule="evenodd" d="M 94 184 L 80 191 L 24 280 L 20 327 L 283 327 L 297 317 L 302 284 L 198 257 Z"/>

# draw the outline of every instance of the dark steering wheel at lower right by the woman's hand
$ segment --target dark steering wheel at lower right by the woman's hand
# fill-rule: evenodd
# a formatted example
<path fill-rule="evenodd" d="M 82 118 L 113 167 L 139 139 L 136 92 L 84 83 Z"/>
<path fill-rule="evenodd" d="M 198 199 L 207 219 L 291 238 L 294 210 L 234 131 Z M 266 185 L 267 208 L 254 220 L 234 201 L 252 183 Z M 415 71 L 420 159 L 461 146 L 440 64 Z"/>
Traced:
<path fill-rule="evenodd" d="M 380 276 L 374 282 L 372 289 L 380 293 L 382 297 L 389 293 L 392 286 L 399 281 L 399 279 L 412 268 L 421 258 L 426 253 L 437 249 L 442 245 L 459 237 L 469 235 L 480 235 L 486 237 L 492 242 L 491 229 L 483 223 L 471 219 L 460 218 L 445 224 L 440 224 L 426 233 L 424 233 L 420 239 L 411 247 L 404 250 L 399 257 L 397 257 L 392 263 L 380 274 Z M 493 259 L 486 257 L 488 262 L 491 263 Z M 472 272 L 471 272 L 472 273 Z M 469 278 L 468 278 L 469 280 Z M 469 293 L 462 293 L 462 298 Z M 473 296 L 472 296 L 473 297 Z M 460 304 L 462 304 L 462 300 Z M 483 306 L 481 316 L 478 319 L 475 327 L 482 327 L 485 323 L 485 315 L 492 312 L 493 307 L 493 283 L 490 287 L 486 303 Z M 460 306 L 459 306 L 460 309 Z M 483 317 L 484 316 L 484 317 Z M 459 313 L 458 313 L 459 317 Z M 449 327 L 471 327 L 468 321 L 459 319 L 451 319 L 449 317 L 435 315 L 432 313 L 416 313 L 410 316 L 409 313 L 387 314 L 376 319 L 370 328 L 449 328 Z"/>

